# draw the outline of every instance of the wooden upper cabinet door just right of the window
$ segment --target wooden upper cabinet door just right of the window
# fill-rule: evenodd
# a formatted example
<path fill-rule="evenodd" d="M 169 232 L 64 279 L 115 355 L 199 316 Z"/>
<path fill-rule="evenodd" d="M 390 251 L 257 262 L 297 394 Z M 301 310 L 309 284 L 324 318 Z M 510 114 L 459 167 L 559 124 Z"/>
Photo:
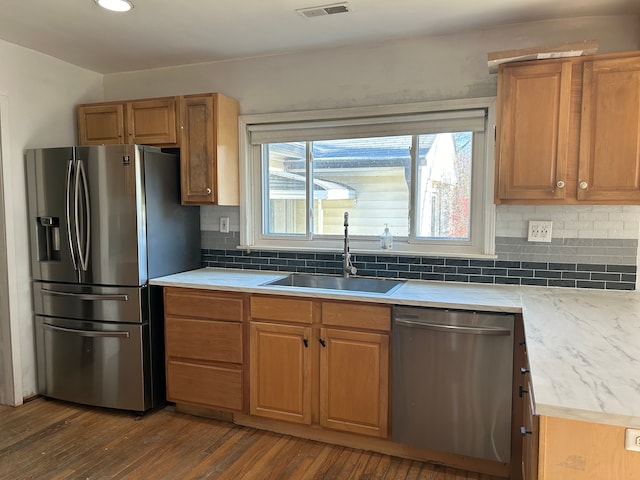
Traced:
<path fill-rule="evenodd" d="M 498 203 L 565 198 L 571 70 L 570 62 L 501 68 L 496 135 Z"/>

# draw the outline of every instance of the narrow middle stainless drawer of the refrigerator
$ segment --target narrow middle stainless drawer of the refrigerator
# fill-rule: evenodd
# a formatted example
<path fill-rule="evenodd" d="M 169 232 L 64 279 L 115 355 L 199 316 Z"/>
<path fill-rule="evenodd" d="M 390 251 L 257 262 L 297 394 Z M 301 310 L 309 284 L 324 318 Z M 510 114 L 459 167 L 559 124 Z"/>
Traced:
<path fill-rule="evenodd" d="M 149 320 L 149 287 L 101 287 L 33 282 L 35 313 L 101 322 Z"/>

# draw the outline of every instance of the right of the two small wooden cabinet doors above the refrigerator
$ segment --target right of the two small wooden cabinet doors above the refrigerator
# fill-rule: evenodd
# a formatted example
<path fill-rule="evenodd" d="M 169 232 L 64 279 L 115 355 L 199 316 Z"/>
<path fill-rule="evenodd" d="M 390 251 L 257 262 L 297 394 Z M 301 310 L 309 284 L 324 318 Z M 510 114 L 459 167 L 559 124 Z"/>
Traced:
<path fill-rule="evenodd" d="M 127 103 L 126 143 L 175 145 L 176 100 L 173 97 Z"/>

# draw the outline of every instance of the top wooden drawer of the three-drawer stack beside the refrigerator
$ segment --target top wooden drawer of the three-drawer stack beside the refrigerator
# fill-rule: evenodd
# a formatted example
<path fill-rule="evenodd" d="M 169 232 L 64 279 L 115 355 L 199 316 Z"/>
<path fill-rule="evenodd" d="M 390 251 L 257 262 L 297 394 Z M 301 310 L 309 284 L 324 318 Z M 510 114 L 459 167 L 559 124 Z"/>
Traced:
<path fill-rule="evenodd" d="M 242 297 L 191 288 L 166 288 L 165 314 L 241 322 Z"/>

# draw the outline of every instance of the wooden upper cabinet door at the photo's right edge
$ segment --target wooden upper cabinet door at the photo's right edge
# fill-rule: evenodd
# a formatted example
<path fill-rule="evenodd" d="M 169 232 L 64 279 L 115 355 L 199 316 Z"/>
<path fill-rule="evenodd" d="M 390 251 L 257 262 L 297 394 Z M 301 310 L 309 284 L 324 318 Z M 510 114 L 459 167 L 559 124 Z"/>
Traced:
<path fill-rule="evenodd" d="M 577 196 L 640 202 L 640 57 L 584 64 Z"/>

